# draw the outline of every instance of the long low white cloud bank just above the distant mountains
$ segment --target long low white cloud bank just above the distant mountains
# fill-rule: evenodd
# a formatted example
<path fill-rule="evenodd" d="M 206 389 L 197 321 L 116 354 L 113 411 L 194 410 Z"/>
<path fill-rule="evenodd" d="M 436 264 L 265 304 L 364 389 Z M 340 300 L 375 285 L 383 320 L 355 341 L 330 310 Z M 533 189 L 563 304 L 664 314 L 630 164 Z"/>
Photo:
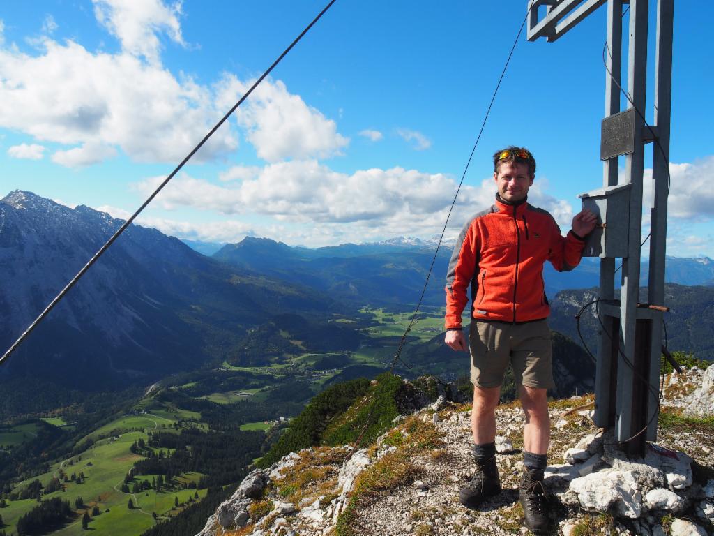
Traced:
<path fill-rule="evenodd" d="M 149 194 L 161 180 L 163 177 L 146 179 L 136 187 L 142 194 Z M 544 179 L 534 184 L 531 200 L 569 227 L 570 205 L 544 194 L 545 184 Z M 296 160 L 269 164 L 256 177 L 244 177 L 231 187 L 182 174 L 166 186 L 157 202 L 167 209 L 255 213 L 296 224 L 357 223 L 388 236 L 431 236 L 434 229 L 443 227 L 455 192 L 456 182 L 443 174 L 401 167 L 343 174 L 315 160 Z M 471 214 L 493 204 L 495 192 L 491 178 L 484 179 L 479 187 L 463 187 L 451 227 L 460 228 Z"/>

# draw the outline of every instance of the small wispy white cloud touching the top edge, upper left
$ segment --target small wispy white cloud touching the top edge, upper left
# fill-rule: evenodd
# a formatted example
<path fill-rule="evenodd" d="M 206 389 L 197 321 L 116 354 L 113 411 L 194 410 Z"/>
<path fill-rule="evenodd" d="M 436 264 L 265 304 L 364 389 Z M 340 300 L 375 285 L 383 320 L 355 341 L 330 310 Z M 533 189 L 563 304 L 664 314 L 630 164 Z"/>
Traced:
<path fill-rule="evenodd" d="M 159 32 L 184 45 L 178 22 L 181 2 L 167 6 L 161 0 L 93 1 L 97 21 L 121 41 L 121 48 L 129 54 L 158 63 L 161 43 L 156 34 Z"/>

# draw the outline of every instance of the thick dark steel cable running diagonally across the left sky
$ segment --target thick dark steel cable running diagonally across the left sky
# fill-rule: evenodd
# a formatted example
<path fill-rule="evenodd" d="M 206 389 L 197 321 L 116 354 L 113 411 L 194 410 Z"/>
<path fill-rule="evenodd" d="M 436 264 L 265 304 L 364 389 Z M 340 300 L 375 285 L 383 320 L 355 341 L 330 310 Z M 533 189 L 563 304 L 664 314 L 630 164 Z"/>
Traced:
<path fill-rule="evenodd" d="M 208 134 L 206 134 L 206 136 L 204 136 L 203 139 L 201 139 L 201 142 L 198 142 L 198 145 L 196 145 L 196 147 L 194 147 L 193 150 L 192 150 L 190 153 L 188 153 L 188 155 L 187 155 L 183 160 L 181 160 L 181 164 L 178 164 L 178 166 L 176 166 L 176 169 L 174 169 L 174 171 L 171 172 L 171 174 L 169 174 L 169 176 L 166 177 L 166 179 L 164 179 L 164 182 L 162 182 L 161 184 L 159 184 L 159 187 L 157 187 L 157 188 L 154 190 L 154 193 L 149 196 L 149 199 L 146 199 L 146 201 L 144 202 L 144 204 L 142 204 L 141 207 L 139 207 L 139 209 L 138 209 L 136 212 L 134 212 L 134 214 L 132 214 L 131 217 L 130 217 L 129 219 L 127 219 L 126 222 L 124 222 L 124 224 L 121 225 L 121 227 L 119 227 L 119 229 L 117 229 L 117 231 L 112 235 L 112 237 L 111 237 L 109 240 L 106 241 L 106 244 L 104 244 L 104 246 L 102 246 L 101 248 L 99 248 L 99 251 L 94 254 L 94 257 L 92 257 L 91 259 L 89 259 L 89 262 L 87 262 L 87 263 L 84 265 L 84 267 L 83 267 L 81 270 L 79 270 L 79 272 L 76 274 L 76 276 L 74 276 L 74 277 L 72 278 L 72 280 L 66 285 L 66 287 L 64 287 L 64 289 L 62 289 L 61 292 L 60 292 L 59 294 L 57 294 L 57 296 L 50 302 L 50 304 L 44 309 L 44 311 L 40 313 L 39 317 L 37 317 L 37 318 L 35 319 L 35 321 L 32 322 L 32 324 L 30 324 L 30 326 L 24 331 L 24 333 L 20 335 L 20 338 L 17 339 L 17 340 L 14 342 L 14 344 L 7 350 L 7 352 L 5 352 L 5 353 L 3 354 L 2 357 L 0 357 L 0 364 L 2 364 L 2 363 L 5 361 L 5 359 L 6 359 L 12 352 L 15 351 L 15 349 L 16 349 L 17 347 L 19 347 L 19 345 L 20 345 L 20 344 L 24 341 L 24 339 L 26 339 L 26 337 L 35 329 L 35 327 L 42 321 L 42 319 L 44 319 L 44 317 L 46 317 L 47 314 L 49 314 L 49 312 L 50 312 L 52 309 L 54 309 L 54 306 L 59 303 L 59 301 L 64 297 L 64 295 L 65 295 L 67 292 L 69 292 L 69 289 L 71 289 L 72 287 L 74 287 L 74 285 L 76 284 L 76 282 L 78 282 L 79 279 L 84 275 L 84 273 L 85 273 L 87 270 L 89 270 L 89 268 L 91 267 L 91 265 L 94 264 L 94 263 L 97 261 L 97 259 L 99 259 L 99 257 L 101 257 L 101 255 L 104 254 L 104 252 L 105 252 L 107 249 L 109 249 L 109 246 L 111 246 L 111 244 L 114 244 L 114 241 L 115 241 L 117 238 L 119 238 L 119 235 L 121 235 L 121 233 L 123 233 L 124 230 L 126 230 L 126 228 L 129 227 L 129 225 L 131 225 L 131 222 L 134 222 L 134 219 L 135 219 L 137 216 L 139 216 L 139 214 L 141 214 L 141 212 L 146 208 L 146 206 L 147 206 L 149 203 L 151 203 L 151 201 L 154 199 L 154 197 L 156 197 L 156 195 L 158 195 L 159 192 L 161 192 L 161 190 L 164 189 L 164 187 L 166 186 L 166 184 L 169 184 L 169 181 L 174 178 L 174 175 L 176 175 L 176 174 L 181 170 L 181 168 L 184 166 L 184 164 L 186 164 L 186 162 L 188 162 L 188 160 L 190 160 L 191 157 L 193 157 L 193 155 L 196 154 L 196 152 L 198 152 L 198 149 L 201 149 L 201 147 L 203 147 L 203 144 L 205 144 L 205 143 L 208 141 L 208 138 L 210 138 L 210 137 L 213 135 L 213 133 L 214 133 L 216 130 L 218 130 L 218 128 L 219 128 L 223 123 L 225 123 L 225 122 L 228 120 L 228 117 L 230 117 L 231 114 L 233 114 L 233 111 L 236 111 L 236 109 L 238 109 L 238 106 L 241 106 L 241 104 L 243 104 L 243 101 L 245 101 L 245 100 L 248 98 L 248 96 L 249 96 L 251 93 L 253 93 L 253 89 L 256 89 L 256 87 L 258 86 L 258 84 L 260 84 L 261 81 L 263 81 L 263 79 L 265 79 L 266 76 L 268 76 L 268 74 L 271 73 L 271 71 L 280 63 L 280 61 L 286 56 L 286 54 L 288 54 L 288 52 L 291 51 L 291 49 L 293 48 L 293 46 L 295 46 L 296 44 L 298 44 L 298 41 L 300 41 L 300 40 L 303 38 L 303 36 L 313 27 L 313 25 L 314 25 L 319 19 L 321 19 L 321 17 L 323 16 L 323 14 L 325 14 L 326 11 L 327 11 L 328 9 L 330 9 L 330 7 L 332 6 L 332 4 L 334 4 L 335 2 L 336 2 L 336 0 L 331 0 L 331 1 L 327 4 L 327 6 L 325 6 L 325 8 L 324 8 L 322 11 L 320 11 L 320 13 L 318 14 L 318 16 L 316 16 L 316 17 L 313 19 L 313 21 L 312 21 L 310 24 L 308 24 L 308 26 L 306 26 L 305 29 L 303 29 L 303 31 L 301 32 L 301 34 L 298 35 L 298 36 L 293 40 L 293 42 L 290 44 L 290 46 L 288 46 L 288 48 L 286 48 L 286 49 L 283 51 L 283 53 L 282 53 L 280 56 L 278 56 L 278 59 L 276 59 L 275 61 L 273 61 L 273 64 L 272 64 L 270 67 L 268 67 L 268 69 L 261 75 L 261 77 L 258 78 L 258 79 L 253 83 L 253 85 L 251 86 L 251 88 L 248 89 L 248 91 L 246 91 L 246 93 L 241 97 L 241 99 L 238 100 L 238 102 L 236 102 L 236 104 L 233 105 L 233 107 L 228 111 L 228 113 L 227 113 L 226 115 L 224 115 L 223 118 L 222 118 L 220 121 L 218 121 L 218 123 L 216 123 L 216 125 L 213 126 L 213 128 L 212 128 L 210 131 L 208 131 Z"/>

